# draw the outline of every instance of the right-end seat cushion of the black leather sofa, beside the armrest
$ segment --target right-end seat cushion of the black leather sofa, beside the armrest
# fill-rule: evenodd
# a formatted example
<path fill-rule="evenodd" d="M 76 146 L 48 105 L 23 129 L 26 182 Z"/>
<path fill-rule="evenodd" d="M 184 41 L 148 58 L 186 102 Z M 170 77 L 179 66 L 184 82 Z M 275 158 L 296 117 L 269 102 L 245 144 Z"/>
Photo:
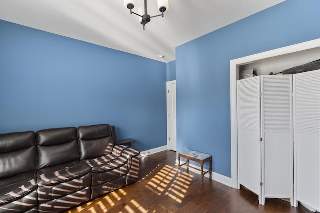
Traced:
<path fill-rule="evenodd" d="M 106 183 L 128 173 L 127 159 L 123 156 L 108 154 L 83 161 L 92 167 L 92 186 Z"/>

